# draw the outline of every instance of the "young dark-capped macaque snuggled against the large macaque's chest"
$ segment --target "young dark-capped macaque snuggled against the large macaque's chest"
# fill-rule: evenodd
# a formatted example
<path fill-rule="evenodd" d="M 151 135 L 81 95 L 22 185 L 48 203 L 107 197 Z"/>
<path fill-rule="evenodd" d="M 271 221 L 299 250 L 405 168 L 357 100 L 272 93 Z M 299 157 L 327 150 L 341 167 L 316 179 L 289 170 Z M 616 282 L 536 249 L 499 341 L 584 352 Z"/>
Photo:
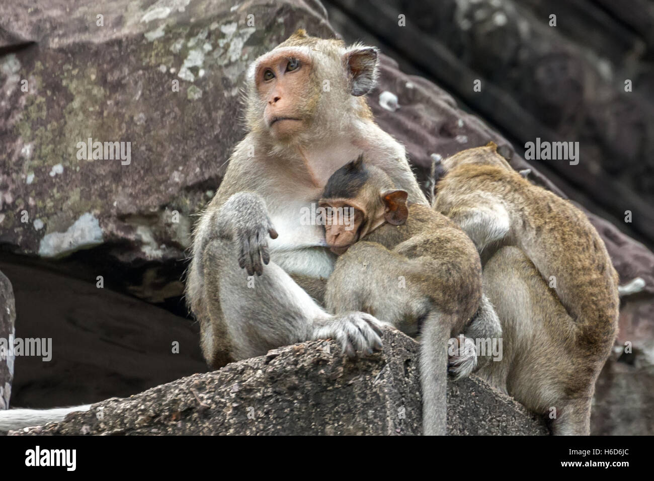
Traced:
<path fill-rule="evenodd" d="M 361 156 L 332 175 L 319 205 L 326 242 L 340 257 L 325 304 L 336 314 L 368 312 L 407 334 L 420 332 L 423 432 L 443 435 L 448 340 L 479 309 L 481 261 L 455 223 L 407 197 Z"/>

